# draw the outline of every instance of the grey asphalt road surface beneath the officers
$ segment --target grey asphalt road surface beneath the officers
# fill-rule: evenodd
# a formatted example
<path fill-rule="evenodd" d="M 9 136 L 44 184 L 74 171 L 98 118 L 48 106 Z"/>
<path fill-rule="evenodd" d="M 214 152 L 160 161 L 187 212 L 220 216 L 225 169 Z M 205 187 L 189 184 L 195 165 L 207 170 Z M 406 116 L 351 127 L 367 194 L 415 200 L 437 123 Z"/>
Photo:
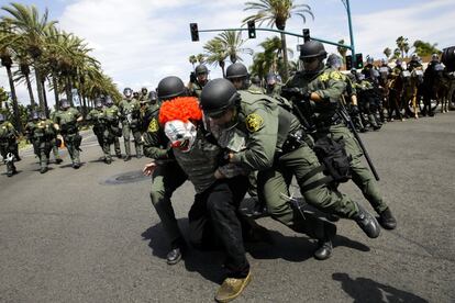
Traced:
<path fill-rule="evenodd" d="M 212 302 L 223 255 L 191 249 L 167 266 L 147 159 L 104 165 L 85 137 L 79 170 L 66 150 L 45 175 L 26 150 L 19 175 L 0 166 L 0 302 Z M 333 257 L 318 261 L 314 243 L 262 218 L 275 243 L 247 246 L 253 280 L 236 302 L 455 302 L 455 112 L 363 138 L 398 228 L 369 239 L 341 221 Z M 186 183 L 174 197 L 184 233 L 192 194 Z"/>

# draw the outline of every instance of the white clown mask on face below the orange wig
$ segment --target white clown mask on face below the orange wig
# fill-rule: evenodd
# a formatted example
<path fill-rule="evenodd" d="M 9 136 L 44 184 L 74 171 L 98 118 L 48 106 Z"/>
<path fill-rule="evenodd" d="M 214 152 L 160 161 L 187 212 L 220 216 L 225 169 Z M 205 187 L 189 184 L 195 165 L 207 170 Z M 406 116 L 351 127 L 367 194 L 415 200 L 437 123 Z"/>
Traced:
<path fill-rule="evenodd" d="M 198 131 L 191 122 L 185 123 L 180 120 L 173 120 L 165 124 L 165 134 L 170 141 L 170 145 L 182 153 L 191 150 L 197 133 Z"/>

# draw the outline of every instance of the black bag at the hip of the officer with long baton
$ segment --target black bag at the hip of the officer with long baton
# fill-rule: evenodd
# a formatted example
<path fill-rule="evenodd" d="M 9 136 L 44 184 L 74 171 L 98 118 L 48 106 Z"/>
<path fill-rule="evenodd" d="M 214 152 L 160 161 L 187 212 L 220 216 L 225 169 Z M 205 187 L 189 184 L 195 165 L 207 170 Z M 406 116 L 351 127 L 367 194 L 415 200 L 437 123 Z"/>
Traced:
<path fill-rule="evenodd" d="M 347 156 L 343 137 L 334 139 L 323 136 L 314 143 L 314 153 L 324 166 L 324 173 L 332 177 L 333 181 L 343 183 L 352 178 L 352 156 Z"/>

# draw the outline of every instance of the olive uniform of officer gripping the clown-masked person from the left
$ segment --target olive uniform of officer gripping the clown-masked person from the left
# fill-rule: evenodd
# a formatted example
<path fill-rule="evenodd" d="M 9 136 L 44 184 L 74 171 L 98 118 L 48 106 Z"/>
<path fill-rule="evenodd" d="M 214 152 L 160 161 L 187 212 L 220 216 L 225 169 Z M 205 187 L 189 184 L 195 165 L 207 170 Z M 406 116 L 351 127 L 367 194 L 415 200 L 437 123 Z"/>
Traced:
<path fill-rule="evenodd" d="M 184 245 L 184 236 L 178 227 L 170 198 L 174 191 L 185 183 L 187 175 L 174 159 L 168 146 L 169 141 L 158 123 L 158 109 L 159 105 L 156 108 L 144 136 L 144 155 L 155 160 L 164 160 L 153 172 L 151 200 L 162 221 L 170 246 L 176 248 Z"/>

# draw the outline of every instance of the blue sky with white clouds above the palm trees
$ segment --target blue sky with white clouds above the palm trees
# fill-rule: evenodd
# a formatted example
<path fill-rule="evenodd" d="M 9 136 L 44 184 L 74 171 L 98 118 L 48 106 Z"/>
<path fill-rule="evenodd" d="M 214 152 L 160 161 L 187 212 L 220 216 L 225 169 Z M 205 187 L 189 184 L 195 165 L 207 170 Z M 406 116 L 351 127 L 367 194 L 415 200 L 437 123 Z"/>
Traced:
<path fill-rule="evenodd" d="M 10 1 L 0 1 L 7 5 Z M 176 75 L 185 81 L 191 71 L 188 57 L 202 53 L 203 44 L 213 33 L 201 33 L 200 42 L 192 43 L 189 23 L 199 29 L 237 27 L 242 19 L 252 12 L 243 11 L 244 0 L 53 0 L 20 1 L 34 4 L 41 11 L 49 10 L 49 16 L 58 20 L 58 26 L 85 38 L 92 55 L 104 71 L 118 83 L 119 89 L 135 90 L 145 86 L 156 87 L 159 79 Z M 341 0 L 296 1 L 312 8 L 314 20 L 303 24 L 299 16 L 292 18 L 287 31 L 301 33 L 309 27 L 315 37 L 348 42 L 347 16 Z M 453 0 L 351 0 L 355 46 L 357 53 L 382 57 L 385 47 L 395 48 L 395 40 L 403 35 L 412 42 L 423 40 L 446 47 L 455 45 L 455 2 Z M 0 14 L 3 12 L 0 11 Z M 246 47 L 259 50 L 257 45 L 267 36 L 257 33 L 256 40 Z M 246 33 L 244 35 L 246 38 Z M 288 47 L 296 49 L 301 40 L 288 38 Z M 336 52 L 326 46 L 329 52 Z M 411 50 L 412 52 L 412 50 Z M 295 57 L 297 56 L 295 52 Z M 244 55 L 249 65 L 252 57 Z M 211 66 L 211 78 L 221 76 Z M 8 89 L 5 71 L 0 69 L 0 86 Z M 29 103 L 23 86 L 18 86 L 19 99 Z M 52 96 L 52 94 L 49 94 Z M 51 98 L 52 99 L 52 98 Z M 53 103 L 53 100 L 51 100 Z"/>

